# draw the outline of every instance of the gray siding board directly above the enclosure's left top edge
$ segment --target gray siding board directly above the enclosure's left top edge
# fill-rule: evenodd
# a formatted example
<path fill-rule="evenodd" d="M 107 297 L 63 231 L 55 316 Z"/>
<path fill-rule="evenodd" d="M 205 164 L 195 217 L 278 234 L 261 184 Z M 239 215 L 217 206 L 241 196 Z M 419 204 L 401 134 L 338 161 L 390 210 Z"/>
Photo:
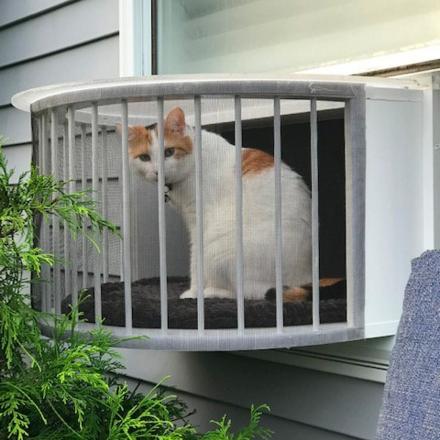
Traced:
<path fill-rule="evenodd" d="M 111 37 L 0 70 L 0 106 L 22 90 L 67 81 L 118 76 L 119 38 Z"/>

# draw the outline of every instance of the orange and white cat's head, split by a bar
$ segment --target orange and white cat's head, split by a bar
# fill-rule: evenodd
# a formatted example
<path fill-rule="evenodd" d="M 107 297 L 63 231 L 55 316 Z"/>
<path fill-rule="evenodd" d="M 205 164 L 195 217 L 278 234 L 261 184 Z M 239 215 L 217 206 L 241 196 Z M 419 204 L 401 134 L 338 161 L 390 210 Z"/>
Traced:
<path fill-rule="evenodd" d="M 118 131 L 120 132 L 120 126 Z M 194 166 L 193 142 L 180 107 L 172 109 L 164 122 L 165 183 L 184 180 Z M 148 181 L 157 182 L 159 173 L 159 135 L 157 124 L 128 127 L 128 153 L 132 165 Z"/>

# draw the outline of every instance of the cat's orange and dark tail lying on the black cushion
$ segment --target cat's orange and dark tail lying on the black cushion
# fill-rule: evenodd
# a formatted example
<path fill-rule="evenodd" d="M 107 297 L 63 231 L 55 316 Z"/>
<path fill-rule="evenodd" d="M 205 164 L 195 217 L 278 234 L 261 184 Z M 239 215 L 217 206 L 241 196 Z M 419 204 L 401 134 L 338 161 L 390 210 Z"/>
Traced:
<path fill-rule="evenodd" d="M 347 292 L 347 280 L 345 278 L 321 278 L 319 280 L 319 298 L 344 298 Z M 310 301 L 312 299 L 312 284 L 299 287 L 285 287 L 283 291 L 284 302 Z M 271 288 L 266 292 L 266 299 L 275 300 L 276 290 Z"/>

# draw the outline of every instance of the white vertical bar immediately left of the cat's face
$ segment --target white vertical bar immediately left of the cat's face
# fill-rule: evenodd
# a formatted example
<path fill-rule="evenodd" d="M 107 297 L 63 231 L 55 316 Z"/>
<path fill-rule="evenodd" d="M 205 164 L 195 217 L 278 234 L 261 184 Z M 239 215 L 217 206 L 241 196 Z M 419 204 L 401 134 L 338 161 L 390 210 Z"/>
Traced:
<path fill-rule="evenodd" d="M 125 329 L 131 331 L 131 261 L 130 261 L 130 178 L 128 167 L 128 105 L 121 103 L 122 117 L 122 236 L 123 236 L 123 276 L 125 300 Z"/>

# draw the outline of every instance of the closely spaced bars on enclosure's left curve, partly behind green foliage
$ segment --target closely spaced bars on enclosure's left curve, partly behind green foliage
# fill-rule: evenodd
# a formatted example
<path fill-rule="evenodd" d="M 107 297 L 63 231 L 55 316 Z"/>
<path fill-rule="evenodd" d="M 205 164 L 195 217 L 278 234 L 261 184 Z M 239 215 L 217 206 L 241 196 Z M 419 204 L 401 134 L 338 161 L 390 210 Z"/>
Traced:
<path fill-rule="evenodd" d="M 92 108 L 92 197 L 95 202 L 98 200 L 98 187 L 99 187 L 99 173 L 98 164 L 102 163 L 102 213 L 104 217 L 108 214 L 108 159 L 104 153 L 107 145 L 107 132 L 106 128 L 101 130 L 102 132 L 102 159 L 98 157 L 98 126 L 97 126 L 97 107 L 95 108 L 95 116 L 93 117 Z M 77 190 L 77 176 L 76 176 L 76 154 L 81 153 L 81 190 L 87 189 L 87 131 L 86 125 L 80 126 L 80 151 L 76 148 L 76 123 L 74 118 L 74 110 L 72 107 L 67 108 L 66 122 L 63 124 L 62 132 L 62 144 L 61 150 L 59 146 L 59 132 L 58 132 L 58 114 L 56 109 L 52 109 L 48 115 L 43 113 L 38 120 L 38 136 L 40 139 L 38 164 L 42 174 L 52 174 L 56 180 L 63 180 L 68 182 L 68 192 L 74 192 Z M 48 137 L 49 134 L 49 137 Z M 49 144 L 50 139 L 50 144 Z M 60 155 L 61 153 L 61 155 Z M 88 234 L 88 225 L 83 224 L 83 237 L 81 240 L 81 270 L 82 270 L 82 283 L 81 287 L 88 287 L 88 252 L 87 252 L 87 239 L 85 237 Z M 52 233 L 52 236 L 51 236 Z M 62 234 L 62 235 L 61 235 Z M 94 237 L 95 240 L 99 240 L 98 237 Z M 61 228 L 59 217 L 52 216 L 50 223 L 45 219 L 42 219 L 40 243 L 43 249 L 51 252 L 55 256 L 55 264 L 51 271 L 48 267 L 43 266 L 42 269 L 42 310 L 49 312 L 52 311 L 52 307 L 56 313 L 61 313 L 61 264 L 60 264 L 60 242 L 63 240 L 64 247 L 64 296 L 71 295 L 72 303 L 78 302 L 78 252 L 79 246 L 72 234 L 69 232 L 69 228 L 66 222 L 63 222 L 63 228 Z M 96 255 L 94 272 L 94 287 L 95 287 L 95 307 L 96 316 L 98 319 L 101 317 L 101 264 L 103 266 L 102 279 L 104 282 L 108 280 L 108 266 L 109 266 L 109 253 L 108 253 L 108 233 L 103 235 L 102 243 L 102 255 Z M 101 261 L 102 260 L 102 261 Z M 53 303 L 52 303 L 53 301 Z"/>

